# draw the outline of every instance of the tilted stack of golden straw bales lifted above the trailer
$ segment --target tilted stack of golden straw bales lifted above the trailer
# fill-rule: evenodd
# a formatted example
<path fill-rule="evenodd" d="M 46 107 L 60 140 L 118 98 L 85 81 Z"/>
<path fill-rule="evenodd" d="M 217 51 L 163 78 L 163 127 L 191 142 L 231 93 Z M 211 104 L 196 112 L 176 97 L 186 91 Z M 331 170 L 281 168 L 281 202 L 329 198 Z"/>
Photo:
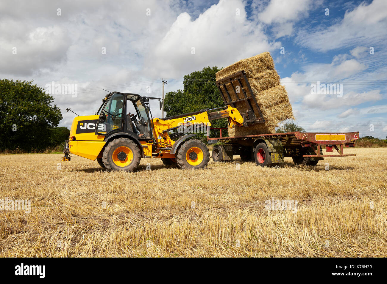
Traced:
<path fill-rule="evenodd" d="M 285 119 L 294 119 L 288 93 L 285 87 L 280 85 L 280 78 L 274 68 L 274 61 L 269 52 L 240 60 L 233 65 L 223 68 L 216 73 L 216 80 L 226 78 L 242 70 L 246 73 L 253 95 L 266 122 L 252 124 L 248 127 L 236 126 L 234 129 L 229 128 L 229 136 L 274 133 L 274 128 L 278 126 L 279 122 Z M 234 88 L 238 85 L 237 83 L 233 84 Z M 228 83 L 226 87 L 233 100 L 243 98 L 242 91 L 239 94 L 235 94 L 231 83 Z M 222 91 L 225 93 L 223 87 Z M 248 95 L 250 94 L 248 90 L 245 91 Z M 235 107 L 240 113 L 244 113 L 248 109 L 245 102 L 237 102 Z M 259 117 L 258 109 L 254 106 L 253 108 L 255 116 Z"/>

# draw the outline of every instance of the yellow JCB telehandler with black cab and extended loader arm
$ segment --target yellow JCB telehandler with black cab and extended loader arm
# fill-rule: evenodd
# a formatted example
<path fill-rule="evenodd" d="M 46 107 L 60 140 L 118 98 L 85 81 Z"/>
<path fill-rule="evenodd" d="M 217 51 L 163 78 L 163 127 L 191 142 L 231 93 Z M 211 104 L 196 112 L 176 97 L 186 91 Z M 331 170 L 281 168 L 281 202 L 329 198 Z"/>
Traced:
<path fill-rule="evenodd" d="M 106 95 L 96 115 L 75 117 L 62 161 L 70 161 L 72 153 L 97 160 L 109 170 L 134 171 L 141 158 L 161 158 L 165 165 L 180 168 L 204 168 L 210 155 L 202 141 L 193 139 L 197 129 L 207 129 L 211 120 L 220 118 L 228 118 L 231 128 L 264 122 L 253 112 L 242 117 L 231 105 L 161 119 L 152 117 L 152 99 L 160 101 L 161 109 L 159 98 L 120 92 Z M 250 98 L 246 103 L 250 104 Z"/>

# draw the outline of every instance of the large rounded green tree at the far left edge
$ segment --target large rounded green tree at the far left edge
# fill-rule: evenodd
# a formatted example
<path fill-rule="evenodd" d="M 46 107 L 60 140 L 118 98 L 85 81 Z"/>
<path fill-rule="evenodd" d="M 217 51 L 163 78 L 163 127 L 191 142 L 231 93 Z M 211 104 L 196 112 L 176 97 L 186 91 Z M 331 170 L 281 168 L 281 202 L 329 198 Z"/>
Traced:
<path fill-rule="evenodd" d="M 33 81 L 0 80 L 0 150 L 43 150 L 63 118 L 54 98 Z"/>

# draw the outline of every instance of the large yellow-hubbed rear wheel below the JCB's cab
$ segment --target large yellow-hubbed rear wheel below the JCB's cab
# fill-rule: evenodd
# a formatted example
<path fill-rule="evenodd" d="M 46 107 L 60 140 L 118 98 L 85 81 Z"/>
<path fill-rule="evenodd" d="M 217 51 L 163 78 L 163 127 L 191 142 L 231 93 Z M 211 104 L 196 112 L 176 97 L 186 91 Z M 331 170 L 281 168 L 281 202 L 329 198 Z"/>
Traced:
<path fill-rule="evenodd" d="M 120 149 L 122 149 L 121 152 L 119 152 Z M 128 153 L 125 154 L 123 150 L 128 151 Z M 122 152 L 123 155 L 119 156 L 118 154 L 121 154 Z M 114 139 L 105 147 L 102 154 L 103 164 L 108 170 L 132 172 L 137 169 L 140 160 L 141 152 L 139 146 L 128 138 Z M 122 166 L 120 164 L 122 164 Z"/>

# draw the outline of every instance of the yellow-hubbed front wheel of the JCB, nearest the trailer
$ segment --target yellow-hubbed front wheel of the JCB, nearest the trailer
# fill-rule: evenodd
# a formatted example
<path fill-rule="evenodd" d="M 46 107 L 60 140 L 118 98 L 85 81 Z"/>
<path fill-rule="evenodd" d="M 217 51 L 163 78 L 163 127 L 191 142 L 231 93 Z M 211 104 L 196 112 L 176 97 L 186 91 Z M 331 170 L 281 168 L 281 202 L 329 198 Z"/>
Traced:
<path fill-rule="evenodd" d="M 180 168 L 205 168 L 210 161 L 210 152 L 198 139 L 187 140 L 180 146 L 176 162 Z"/>

